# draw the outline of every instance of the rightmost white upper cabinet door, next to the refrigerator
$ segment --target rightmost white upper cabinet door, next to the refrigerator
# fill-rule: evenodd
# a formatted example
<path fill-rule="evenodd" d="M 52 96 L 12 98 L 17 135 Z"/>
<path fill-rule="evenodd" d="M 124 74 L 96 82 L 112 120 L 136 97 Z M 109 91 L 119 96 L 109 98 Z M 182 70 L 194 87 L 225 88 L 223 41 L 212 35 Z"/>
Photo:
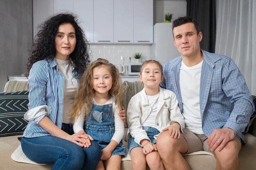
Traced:
<path fill-rule="evenodd" d="M 135 44 L 153 44 L 153 0 L 133 1 Z"/>

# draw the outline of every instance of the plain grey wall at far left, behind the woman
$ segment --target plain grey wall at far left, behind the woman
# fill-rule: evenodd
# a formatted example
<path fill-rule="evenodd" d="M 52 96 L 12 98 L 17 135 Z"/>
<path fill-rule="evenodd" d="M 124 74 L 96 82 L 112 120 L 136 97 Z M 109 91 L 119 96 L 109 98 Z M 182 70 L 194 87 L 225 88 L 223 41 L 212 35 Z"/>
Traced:
<path fill-rule="evenodd" d="M 24 73 L 33 43 L 32 0 L 1 0 L 0 92 L 8 75 Z"/>

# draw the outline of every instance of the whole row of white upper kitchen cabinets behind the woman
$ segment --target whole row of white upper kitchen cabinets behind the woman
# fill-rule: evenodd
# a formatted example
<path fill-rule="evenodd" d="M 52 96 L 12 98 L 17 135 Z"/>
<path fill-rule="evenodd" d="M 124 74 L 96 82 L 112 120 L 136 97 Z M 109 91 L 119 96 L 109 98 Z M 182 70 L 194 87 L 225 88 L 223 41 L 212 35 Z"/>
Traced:
<path fill-rule="evenodd" d="M 89 43 L 153 44 L 153 0 L 33 0 L 33 34 L 60 12 L 74 12 Z"/>

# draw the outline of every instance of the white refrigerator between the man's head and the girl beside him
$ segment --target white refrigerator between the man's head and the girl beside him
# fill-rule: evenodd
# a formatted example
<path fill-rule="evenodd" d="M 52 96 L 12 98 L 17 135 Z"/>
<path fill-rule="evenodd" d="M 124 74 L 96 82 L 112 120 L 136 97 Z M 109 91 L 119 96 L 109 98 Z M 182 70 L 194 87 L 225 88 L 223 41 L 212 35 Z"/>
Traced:
<path fill-rule="evenodd" d="M 152 59 L 162 65 L 180 56 L 173 44 L 172 23 L 157 23 L 154 25 L 154 43 L 151 45 Z"/>

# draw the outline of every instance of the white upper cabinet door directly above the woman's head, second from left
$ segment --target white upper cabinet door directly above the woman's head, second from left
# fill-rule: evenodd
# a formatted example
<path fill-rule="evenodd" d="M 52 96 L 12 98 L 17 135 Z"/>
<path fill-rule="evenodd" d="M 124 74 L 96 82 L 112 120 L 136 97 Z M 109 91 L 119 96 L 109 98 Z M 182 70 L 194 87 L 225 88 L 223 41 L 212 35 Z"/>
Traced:
<path fill-rule="evenodd" d="M 73 12 L 74 0 L 53 0 L 53 13 Z"/>

